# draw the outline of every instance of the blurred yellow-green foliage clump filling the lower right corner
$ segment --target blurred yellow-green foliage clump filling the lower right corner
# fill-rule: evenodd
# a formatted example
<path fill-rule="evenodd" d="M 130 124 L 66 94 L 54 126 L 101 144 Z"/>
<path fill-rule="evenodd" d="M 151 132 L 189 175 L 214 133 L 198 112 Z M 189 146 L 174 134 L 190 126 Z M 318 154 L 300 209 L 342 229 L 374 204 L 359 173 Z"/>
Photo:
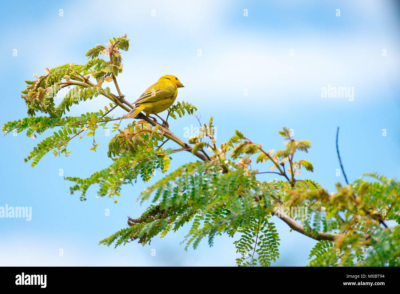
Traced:
<path fill-rule="evenodd" d="M 344 234 L 335 243 L 319 241 L 310 253 L 310 258 L 314 256 L 310 266 L 399 265 L 400 228 L 382 230 L 379 224 L 398 222 L 400 183 L 376 173 L 364 176 L 379 182 L 366 182 L 361 177 L 352 189 L 337 185 L 338 193 L 321 199 L 325 209 L 316 221 L 324 223 L 324 231 L 336 229 Z"/>

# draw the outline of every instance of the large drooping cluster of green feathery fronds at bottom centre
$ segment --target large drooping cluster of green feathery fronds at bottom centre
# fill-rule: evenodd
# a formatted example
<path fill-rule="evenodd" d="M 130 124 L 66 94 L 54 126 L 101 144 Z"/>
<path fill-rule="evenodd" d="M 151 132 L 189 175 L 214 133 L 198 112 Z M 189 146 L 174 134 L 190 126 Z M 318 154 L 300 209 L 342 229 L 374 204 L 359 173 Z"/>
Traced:
<path fill-rule="evenodd" d="M 271 217 L 265 211 L 267 205 L 264 201 L 254 201 L 254 190 L 259 195 L 263 193 L 257 182 L 242 172 L 223 173 L 218 161 L 184 165 L 140 194 L 141 201 L 154 195 L 152 202 L 155 205 L 140 218 L 129 218 L 129 230 L 121 230 L 120 234 L 100 243 L 110 245 L 117 241 L 118 246 L 139 239 L 140 243 L 146 244 L 157 234 L 163 237 L 194 221 L 186 236 L 186 248 L 190 244 L 196 248 L 207 235 L 211 246 L 216 235 L 226 232 L 233 236 L 246 230 L 249 222 L 254 222 L 254 217 L 249 215 L 256 213 L 260 215 L 256 254 L 262 265 L 269 265 L 270 260 L 279 255 L 279 238 L 274 224 L 267 221 Z M 252 265 L 256 260 L 254 258 Z"/>

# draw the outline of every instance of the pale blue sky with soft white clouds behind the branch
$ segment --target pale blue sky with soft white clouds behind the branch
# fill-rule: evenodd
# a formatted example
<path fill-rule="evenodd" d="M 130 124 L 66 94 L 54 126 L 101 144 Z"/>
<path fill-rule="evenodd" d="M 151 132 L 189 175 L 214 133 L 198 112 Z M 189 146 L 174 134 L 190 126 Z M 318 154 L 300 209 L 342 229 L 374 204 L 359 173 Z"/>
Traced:
<path fill-rule="evenodd" d="M 83 64 L 87 49 L 127 33 L 130 50 L 122 53 L 124 72 L 118 83 L 129 101 L 158 77 L 173 74 L 185 85 L 178 91 L 178 100 L 196 105 L 203 121 L 214 117 L 218 142 L 239 129 L 267 150 L 281 149 L 277 131 L 290 127 L 296 139 L 312 143 L 309 153 L 298 156 L 314 164 L 314 173 L 302 173 L 300 178 L 312 178 L 332 192 L 336 182 L 344 182 L 336 177 L 339 126 L 349 181 L 364 172 L 399 178 L 400 18 L 396 3 L 7 2 L 2 8 L 8 13 L 0 20 L 4 28 L 0 33 L 1 121 L 26 116 L 20 98 L 25 79 L 44 74 L 45 66 Z M 321 88 L 328 85 L 354 87 L 354 100 L 321 97 Z M 97 111 L 106 104 L 105 99 L 92 99 L 71 107 L 71 115 Z M 188 116 L 170 121 L 170 129 L 183 137 L 184 127 L 191 124 L 197 125 L 197 120 Z M 136 217 L 144 210 L 135 201 L 146 184 L 124 186 L 116 205 L 107 197 L 96 198 L 96 187 L 88 190 L 87 201 L 80 202 L 78 195 L 67 193 L 70 183 L 60 177 L 60 169 L 64 176 L 87 177 L 107 167 L 110 137 L 96 138 L 100 142 L 96 153 L 89 151 L 90 139 L 82 139 L 71 143 L 68 158 L 48 154 L 31 168 L 23 159 L 38 139 L 10 133 L 0 140 L 0 206 L 32 207 L 32 221 L 0 219 L 0 265 L 235 265 L 236 249 L 225 235 L 217 237 L 212 248 L 204 240 L 198 249 L 185 252 L 179 242 L 188 228 L 156 237 L 150 246 L 133 242 L 116 249 L 98 246 L 99 240 L 126 226 L 127 215 Z M 189 153 L 179 155 L 174 156 L 171 170 L 196 160 Z M 267 171 L 268 166 L 258 169 Z M 260 175 L 260 179 L 273 178 Z M 105 209 L 110 209 L 110 216 L 105 216 Z M 315 241 L 290 233 L 279 219 L 274 222 L 280 233 L 281 257 L 273 265 L 306 265 Z M 156 256 L 151 255 L 152 249 Z"/>

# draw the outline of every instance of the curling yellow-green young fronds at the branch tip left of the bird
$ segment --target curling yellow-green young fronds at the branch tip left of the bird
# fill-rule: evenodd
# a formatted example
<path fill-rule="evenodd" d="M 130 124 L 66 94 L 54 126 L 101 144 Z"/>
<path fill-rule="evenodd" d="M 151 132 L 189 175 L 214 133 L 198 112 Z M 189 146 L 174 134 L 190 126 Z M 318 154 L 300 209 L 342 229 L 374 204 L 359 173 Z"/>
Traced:
<path fill-rule="evenodd" d="M 59 116 L 69 110 L 72 104 L 78 104 L 79 101 L 92 99 L 97 95 L 103 94 L 106 97 L 110 95 L 110 89 L 103 89 L 101 84 L 107 78 L 111 79 L 112 73 L 117 76 L 122 72 L 122 58 L 118 49 L 127 51 L 129 40 L 125 36 L 110 39 L 110 46 L 106 48 L 103 45 L 96 45 L 88 50 L 86 56 L 92 58 L 86 64 L 64 64 L 51 70 L 46 70 L 46 75 L 41 75 L 33 81 L 25 81 L 26 89 L 21 97 L 25 99 L 28 107 L 28 114 L 33 116 L 35 111 L 41 111 L 50 114 L 51 117 Z M 97 58 L 102 53 L 104 56 L 112 56 L 111 60 Z M 96 79 L 96 84 L 91 83 L 89 75 Z M 73 81 L 71 83 L 71 80 Z M 54 97 L 58 91 L 64 87 L 74 85 L 75 87 L 68 91 L 63 101 L 55 106 Z"/>

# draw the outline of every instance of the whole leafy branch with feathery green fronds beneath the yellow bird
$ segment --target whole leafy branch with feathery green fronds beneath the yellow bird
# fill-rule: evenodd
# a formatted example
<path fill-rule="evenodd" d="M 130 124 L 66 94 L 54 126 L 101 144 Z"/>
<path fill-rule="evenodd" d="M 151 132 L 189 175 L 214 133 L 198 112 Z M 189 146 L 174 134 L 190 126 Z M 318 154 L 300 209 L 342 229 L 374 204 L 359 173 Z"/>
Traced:
<path fill-rule="evenodd" d="M 338 183 L 337 191 L 328 193 L 313 180 L 298 179 L 302 168 L 314 171 L 312 163 L 297 159 L 298 151 L 308 152 L 311 143 L 294 139 L 286 127 L 279 131 L 286 147 L 266 151 L 262 144 L 252 142 L 238 130 L 227 142 L 217 144 L 212 117 L 208 124 L 197 118 L 199 132 L 188 142 L 142 113 L 124 126 L 124 120 L 114 118 L 112 113 L 118 108 L 130 111 L 134 107 L 117 81 L 123 68 L 121 51 L 128 48 L 126 35 L 112 38 L 105 46 L 89 49 L 86 64 L 46 68 L 45 75 L 27 80 L 21 97 L 28 108 L 28 117 L 9 121 L 2 128 L 6 133 L 26 131 L 33 138 L 46 132 L 47 137 L 25 159 L 32 161 L 33 167 L 50 151 L 54 156 L 62 153 L 68 156 L 68 143 L 84 135 L 92 136 L 90 150 L 96 151 L 99 144 L 95 141 L 96 130 L 107 129 L 108 123 L 114 122 L 111 132 L 115 135 L 107 152 L 112 164 L 87 178 L 65 178 L 74 182 L 70 193 L 79 192 L 82 201 L 88 187 L 98 185 L 98 196 L 108 195 L 117 203 L 115 197 L 121 196 L 123 184 L 134 185 L 138 179 L 150 183 L 155 171 L 164 174 L 138 195 L 141 203 L 150 199 L 152 205 L 141 216 L 128 217 L 127 228 L 100 244 L 118 246 L 133 240 L 150 244 L 155 236 L 164 237 L 190 224 L 182 241 L 185 249 L 196 248 L 205 237 L 212 246 L 215 236 L 238 236 L 234 241 L 239 256 L 237 264 L 268 266 L 279 258 L 280 238 L 272 222 L 273 217 L 278 217 L 290 230 L 318 240 L 310 253 L 311 266 L 400 265 L 399 226 L 379 226 L 383 220 L 400 224 L 399 181 L 365 174 L 374 182 L 361 177 L 345 186 Z M 104 87 L 111 81 L 117 93 Z M 54 98 L 66 89 L 68 92 L 56 106 Z M 79 117 L 62 116 L 73 105 L 98 95 L 110 100 L 104 110 Z M 168 109 L 166 120 L 193 115 L 196 110 L 188 102 L 177 102 Z M 44 116 L 35 116 L 36 112 Z M 170 155 L 181 151 L 192 153 L 197 161 L 168 171 Z M 265 163 L 269 169 L 263 169 Z M 260 180 L 265 174 L 280 178 Z"/>

